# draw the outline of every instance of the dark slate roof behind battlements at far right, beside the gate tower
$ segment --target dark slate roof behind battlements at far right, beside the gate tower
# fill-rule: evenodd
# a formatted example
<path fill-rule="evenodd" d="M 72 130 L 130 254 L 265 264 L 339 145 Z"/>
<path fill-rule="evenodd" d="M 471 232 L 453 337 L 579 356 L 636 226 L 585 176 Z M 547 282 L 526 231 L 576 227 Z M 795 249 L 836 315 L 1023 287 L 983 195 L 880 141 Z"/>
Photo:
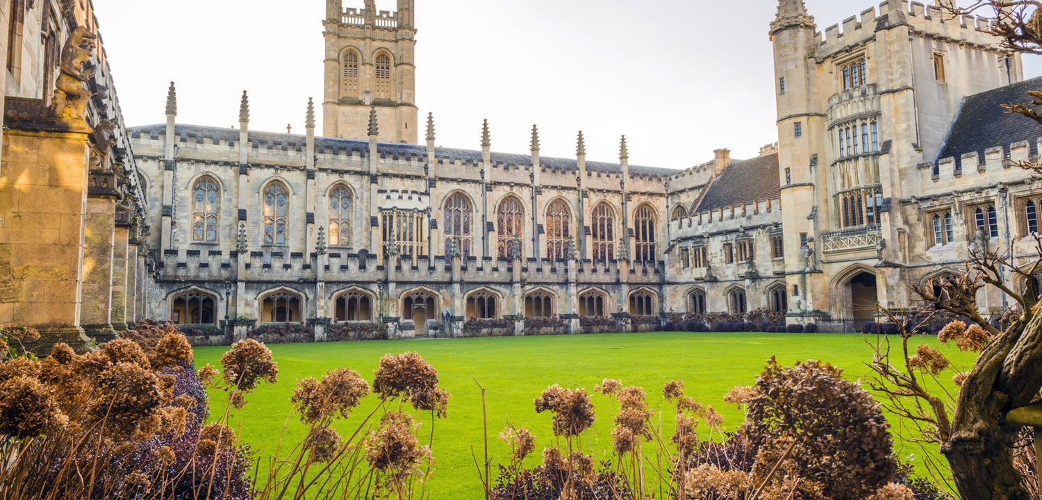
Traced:
<path fill-rule="evenodd" d="M 963 99 L 937 159 L 954 157 L 958 170 L 963 168 L 963 154 L 977 153 L 983 161 L 985 150 L 1001 146 L 1008 154 L 1010 145 L 1021 141 L 1029 141 L 1031 152 L 1036 154 L 1035 140 L 1042 138 L 1042 125 L 1022 115 L 1010 115 L 1001 107 L 1002 104 L 1028 102 L 1029 91 L 1042 91 L 1042 77 Z M 1036 109 L 1042 111 L 1040 107 Z"/>

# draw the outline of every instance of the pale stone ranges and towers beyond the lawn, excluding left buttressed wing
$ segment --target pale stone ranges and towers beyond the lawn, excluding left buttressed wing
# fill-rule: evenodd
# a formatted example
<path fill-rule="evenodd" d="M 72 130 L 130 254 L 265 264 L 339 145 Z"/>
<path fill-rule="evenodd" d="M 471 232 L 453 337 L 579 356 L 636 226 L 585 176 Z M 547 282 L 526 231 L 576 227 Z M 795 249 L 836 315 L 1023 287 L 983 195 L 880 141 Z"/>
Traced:
<path fill-rule="evenodd" d="M 783 0 L 770 27 L 780 141 L 684 171 L 630 167 L 624 139 L 618 162 L 588 161 L 581 133 L 574 158 L 543 157 L 535 127 L 525 154 L 493 153 L 488 124 L 479 149 L 437 148 L 433 117 L 415 145 L 415 118 L 394 104 L 415 109 L 413 8 L 329 0 L 330 138 L 315 136 L 311 104 L 305 135 L 249 131 L 245 96 L 238 130 L 178 125 L 173 101 L 165 126 L 132 130 L 149 204 L 163 207 L 149 221 L 163 228 L 151 240 L 163 249 L 156 318 L 313 318 L 323 331 L 326 319 L 383 318 L 412 336 L 502 334 L 510 322 L 515 333 L 578 332 L 603 327 L 581 318 L 613 315 L 640 329 L 667 312 L 769 308 L 853 329 L 876 303 L 918 305 L 909 284 L 958 271 L 971 207 L 1013 210 L 1002 200 L 1032 190 L 1009 162 L 1034 144 L 1008 159 L 992 145 L 972 175 L 937 159 L 964 100 L 1022 76 L 976 20 L 933 6 L 887 1 L 822 36 L 801 1 Z M 377 53 L 405 65 L 383 102 L 367 67 Z M 949 206 L 950 234 L 942 227 L 935 244 L 931 215 Z M 1004 244 L 1008 218 L 988 245 Z M 981 306 L 1003 300 L 987 291 Z M 547 317 L 556 323 L 523 321 Z M 468 329 L 470 319 L 485 322 Z"/>

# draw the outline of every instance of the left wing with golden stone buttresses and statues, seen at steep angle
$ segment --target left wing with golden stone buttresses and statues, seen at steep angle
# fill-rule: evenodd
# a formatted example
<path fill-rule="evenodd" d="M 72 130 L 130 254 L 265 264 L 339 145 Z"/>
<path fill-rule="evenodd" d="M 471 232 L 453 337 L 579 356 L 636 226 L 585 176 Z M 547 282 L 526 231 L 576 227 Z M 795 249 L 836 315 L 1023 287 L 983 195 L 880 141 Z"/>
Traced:
<path fill-rule="evenodd" d="M 148 317 L 138 164 L 93 4 L 4 2 L 0 19 L 0 323 L 88 349 Z"/>

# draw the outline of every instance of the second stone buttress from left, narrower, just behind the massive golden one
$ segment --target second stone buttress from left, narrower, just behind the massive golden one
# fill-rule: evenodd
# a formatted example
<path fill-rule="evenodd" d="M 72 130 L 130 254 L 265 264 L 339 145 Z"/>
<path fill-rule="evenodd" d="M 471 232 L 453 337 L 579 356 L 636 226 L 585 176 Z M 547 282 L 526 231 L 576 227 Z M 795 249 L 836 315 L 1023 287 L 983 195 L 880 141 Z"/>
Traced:
<path fill-rule="evenodd" d="M 83 222 L 83 308 L 80 324 L 88 336 L 105 342 L 111 325 L 113 257 L 116 244 L 116 175 L 91 172 Z"/>

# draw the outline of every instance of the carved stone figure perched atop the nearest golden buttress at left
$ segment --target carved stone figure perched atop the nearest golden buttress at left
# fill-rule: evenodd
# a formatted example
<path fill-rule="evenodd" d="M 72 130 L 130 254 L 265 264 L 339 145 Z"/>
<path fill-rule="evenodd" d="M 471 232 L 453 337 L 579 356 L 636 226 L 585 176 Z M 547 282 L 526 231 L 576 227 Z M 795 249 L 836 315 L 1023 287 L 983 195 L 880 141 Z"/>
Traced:
<path fill-rule="evenodd" d="M 54 86 L 51 111 L 66 120 L 83 120 L 86 103 L 94 93 L 83 85 L 94 77 L 91 65 L 98 36 L 84 26 L 72 31 L 61 49 L 60 74 Z"/>

